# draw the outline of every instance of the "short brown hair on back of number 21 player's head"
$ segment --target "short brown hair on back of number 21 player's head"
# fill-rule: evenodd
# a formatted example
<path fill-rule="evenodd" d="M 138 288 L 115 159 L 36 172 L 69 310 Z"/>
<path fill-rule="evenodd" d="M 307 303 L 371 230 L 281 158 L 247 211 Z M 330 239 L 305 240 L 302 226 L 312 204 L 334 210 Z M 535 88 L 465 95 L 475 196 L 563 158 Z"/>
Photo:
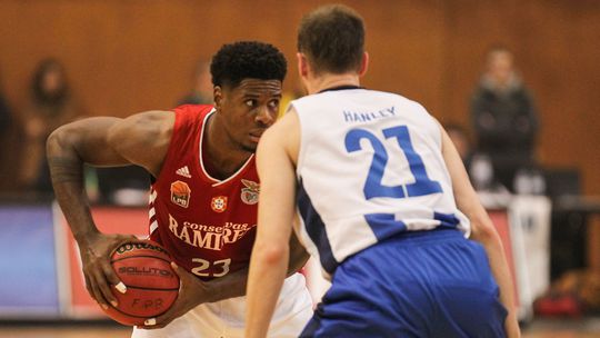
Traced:
<path fill-rule="evenodd" d="M 358 71 L 364 51 L 362 18 L 342 4 L 318 8 L 300 21 L 298 51 L 317 73 Z"/>

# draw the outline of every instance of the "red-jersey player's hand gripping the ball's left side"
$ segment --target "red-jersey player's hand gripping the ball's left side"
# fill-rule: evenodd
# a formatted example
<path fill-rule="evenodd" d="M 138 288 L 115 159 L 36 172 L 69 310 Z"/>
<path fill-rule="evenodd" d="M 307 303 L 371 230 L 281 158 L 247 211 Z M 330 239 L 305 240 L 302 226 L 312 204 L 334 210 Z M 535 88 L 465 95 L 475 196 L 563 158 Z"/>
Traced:
<path fill-rule="evenodd" d="M 137 241 L 139 239 L 133 235 L 96 233 L 88 237 L 86 245 L 79 243 L 86 289 L 100 307 L 108 309 L 109 302 L 118 305 L 111 286 L 123 294 L 126 291 L 124 285 L 110 265 L 110 255 L 122 243 Z"/>

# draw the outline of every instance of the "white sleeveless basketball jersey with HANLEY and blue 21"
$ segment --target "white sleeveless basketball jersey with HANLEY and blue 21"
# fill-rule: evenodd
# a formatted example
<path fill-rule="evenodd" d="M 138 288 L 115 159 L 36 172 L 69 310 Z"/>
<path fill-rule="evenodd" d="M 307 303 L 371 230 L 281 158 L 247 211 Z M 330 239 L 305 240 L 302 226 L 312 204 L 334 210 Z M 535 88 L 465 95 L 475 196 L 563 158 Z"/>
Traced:
<path fill-rule="evenodd" d="M 419 103 L 367 89 L 330 90 L 290 103 L 301 129 L 296 229 L 330 277 L 347 257 L 403 231 L 456 228 L 441 132 Z"/>

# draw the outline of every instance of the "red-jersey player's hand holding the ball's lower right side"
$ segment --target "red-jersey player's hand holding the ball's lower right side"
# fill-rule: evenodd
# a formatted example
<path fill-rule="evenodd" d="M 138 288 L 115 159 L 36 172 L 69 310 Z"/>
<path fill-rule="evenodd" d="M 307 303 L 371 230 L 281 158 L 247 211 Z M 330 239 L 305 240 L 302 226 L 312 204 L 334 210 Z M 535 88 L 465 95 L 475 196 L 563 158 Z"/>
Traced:
<path fill-rule="evenodd" d="M 171 262 L 171 267 L 179 276 L 179 280 L 181 281 L 177 300 L 167 312 L 158 316 L 157 318 L 147 319 L 144 326 L 138 326 L 139 328 L 163 328 L 169 322 L 186 315 L 189 310 L 193 309 L 198 305 L 209 300 L 210 295 L 208 295 L 206 284 L 202 280 L 188 272 L 186 269 L 178 267 L 174 262 Z"/>

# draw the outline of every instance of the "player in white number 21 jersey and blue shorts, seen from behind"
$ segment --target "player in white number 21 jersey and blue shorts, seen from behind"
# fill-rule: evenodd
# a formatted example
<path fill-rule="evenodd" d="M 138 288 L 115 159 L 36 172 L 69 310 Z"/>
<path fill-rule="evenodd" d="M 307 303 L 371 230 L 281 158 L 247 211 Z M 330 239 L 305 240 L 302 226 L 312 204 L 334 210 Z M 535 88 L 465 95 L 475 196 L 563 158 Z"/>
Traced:
<path fill-rule="evenodd" d="M 457 150 L 421 105 L 360 87 L 363 40 L 347 7 L 300 23 L 309 96 L 259 145 L 246 337 L 267 334 L 294 205 L 332 281 L 301 337 L 519 337 L 502 245 Z"/>

